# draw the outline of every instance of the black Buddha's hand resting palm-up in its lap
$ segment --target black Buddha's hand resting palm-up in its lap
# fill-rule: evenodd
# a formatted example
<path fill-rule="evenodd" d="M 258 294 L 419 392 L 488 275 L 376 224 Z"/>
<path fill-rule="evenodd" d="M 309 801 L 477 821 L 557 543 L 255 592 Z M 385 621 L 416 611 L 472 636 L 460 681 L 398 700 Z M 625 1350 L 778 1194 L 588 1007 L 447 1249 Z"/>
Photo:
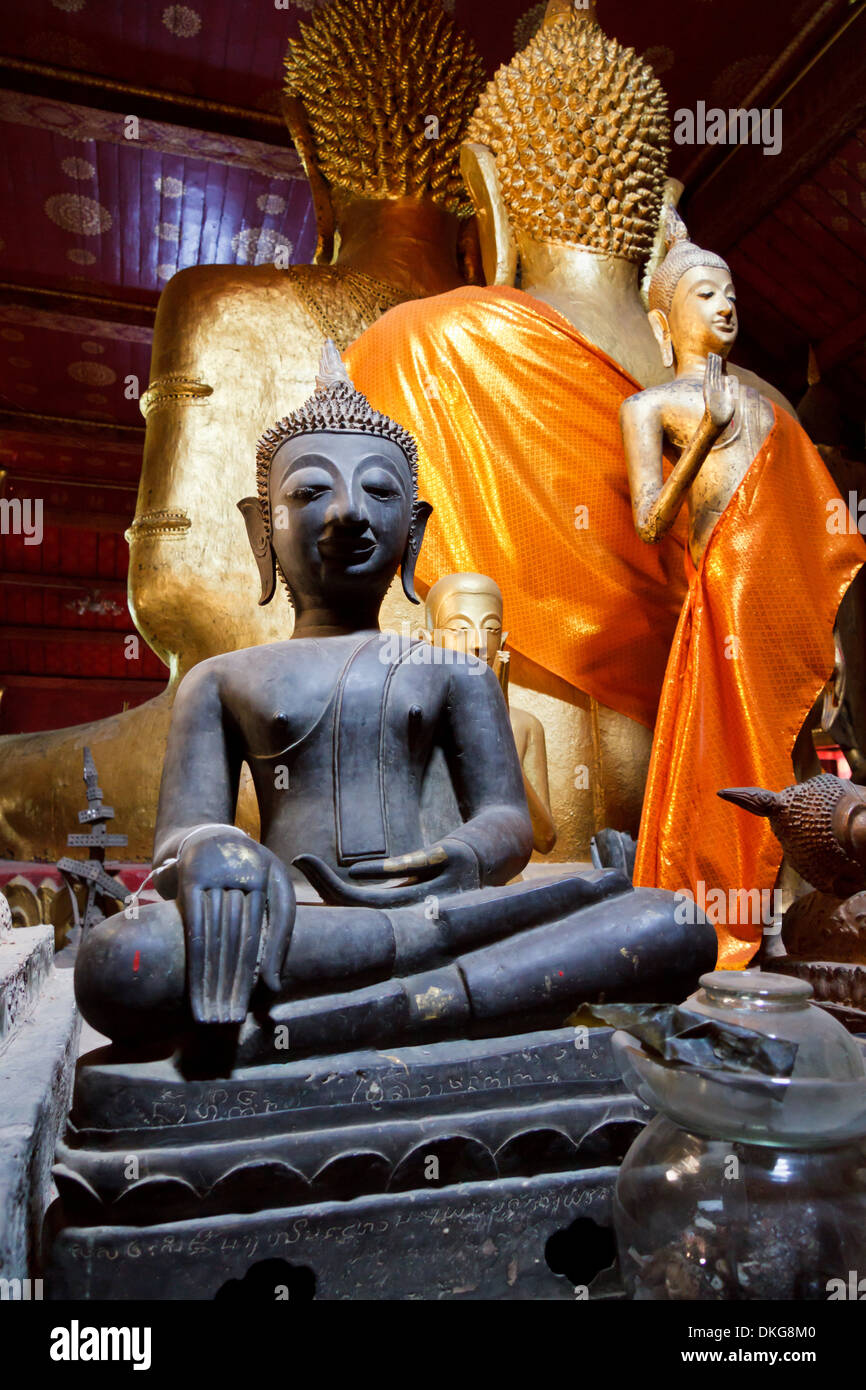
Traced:
<path fill-rule="evenodd" d="M 450 837 L 410 855 L 353 865 L 350 877 L 373 880 L 371 885 L 346 883 L 317 855 L 299 855 L 293 862 L 324 902 L 339 906 L 399 908 L 423 902 L 431 894 L 446 897 L 481 884 L 475 852 L 463 840 Z M 382 878 L 406 881 L 385 885 L 378 881 Z"/>

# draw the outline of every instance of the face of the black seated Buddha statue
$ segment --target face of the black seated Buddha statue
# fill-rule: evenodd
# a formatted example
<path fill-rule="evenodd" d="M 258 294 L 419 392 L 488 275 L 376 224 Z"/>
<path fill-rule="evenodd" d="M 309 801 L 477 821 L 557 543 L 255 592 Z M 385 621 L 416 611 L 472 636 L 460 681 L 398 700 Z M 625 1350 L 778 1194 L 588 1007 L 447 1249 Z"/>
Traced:
<path fill-rule="evenodd" d="M 368 434 L 288 439 L 271 463 L 271 543 L 296 598 L 384 594 L 406 548 L 411 475 L 403 450 Z"/>

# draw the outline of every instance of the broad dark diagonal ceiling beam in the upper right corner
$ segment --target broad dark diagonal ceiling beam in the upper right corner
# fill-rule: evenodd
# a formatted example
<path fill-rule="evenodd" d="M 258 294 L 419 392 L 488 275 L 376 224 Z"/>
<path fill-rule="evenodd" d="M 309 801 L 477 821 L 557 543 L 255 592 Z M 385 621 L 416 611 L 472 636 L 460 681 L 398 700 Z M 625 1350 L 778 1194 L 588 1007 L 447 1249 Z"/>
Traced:
<path fill-rule="evenodd" d="M 689 235 L 724 254 L 866 121 L 866 0 L 773 101 L 783 147 L 714 146 L 717 163 L 683 197 Z"/>

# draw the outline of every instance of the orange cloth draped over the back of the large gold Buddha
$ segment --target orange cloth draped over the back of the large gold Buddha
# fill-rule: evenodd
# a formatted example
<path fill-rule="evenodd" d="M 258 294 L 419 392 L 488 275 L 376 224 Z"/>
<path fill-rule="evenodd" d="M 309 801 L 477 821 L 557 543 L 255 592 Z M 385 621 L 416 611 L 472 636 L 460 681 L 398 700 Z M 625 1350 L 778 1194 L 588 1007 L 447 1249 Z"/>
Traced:
<path fill-rule="evenodd" d="M 683 532 L 649 546 L 631 518 L 619 407 L 638 382 L 499 286 L 400 304 L 346 361 L 418 441 L 421 584 L 491 575 L 510 646 L 652 727 L 685 584 Z"/>

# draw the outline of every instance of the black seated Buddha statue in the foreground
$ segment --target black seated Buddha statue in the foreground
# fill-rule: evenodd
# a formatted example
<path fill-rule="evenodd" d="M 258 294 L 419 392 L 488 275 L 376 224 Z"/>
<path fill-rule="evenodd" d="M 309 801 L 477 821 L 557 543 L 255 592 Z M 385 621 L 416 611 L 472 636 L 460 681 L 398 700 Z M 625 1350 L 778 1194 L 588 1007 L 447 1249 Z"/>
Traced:
<path fill-rule="evenodd" d="M 701 919 L 616 872 L 507 884 L 532 826 L 496 676 L 396 638 L 430 516 L 417 445 L 328 345 L 314 395 L 259 445 L 239 503 L 288 641 L 200 662 L 178 689 L 154 863 L 161 901 L 82 941 L 83 1016 L 138 1047 L 288 1027 L 291 1055 L 562 1023 L 582 1001 L 680 999 L 716 954 Z M 421 783 L 441 749 L 459 823 L 430 842 Z M 252 769 L 261 841 L 232 824 Z M 321 902 L 299 902 L 304 876 Z M 210 1031 L 209 1031 L 210 1030 Z M 204 1040 L 204 1049 L 202 1041 Z M 274 1054 L 278 1059 L 278 1054 Z"/>

